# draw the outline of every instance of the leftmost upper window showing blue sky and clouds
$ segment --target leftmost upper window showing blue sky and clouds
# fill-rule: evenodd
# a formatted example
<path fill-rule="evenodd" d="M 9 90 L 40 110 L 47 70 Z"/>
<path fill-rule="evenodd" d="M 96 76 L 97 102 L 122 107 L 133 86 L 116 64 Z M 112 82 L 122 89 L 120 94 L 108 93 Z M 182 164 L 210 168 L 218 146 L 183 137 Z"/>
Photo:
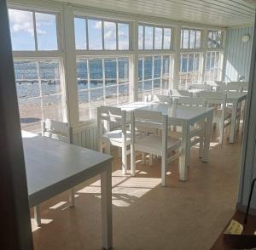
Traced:
<path fill-rule="evenodd" d="M 9 9 L 14 51 L 58 50 L 56 15 Z"/>

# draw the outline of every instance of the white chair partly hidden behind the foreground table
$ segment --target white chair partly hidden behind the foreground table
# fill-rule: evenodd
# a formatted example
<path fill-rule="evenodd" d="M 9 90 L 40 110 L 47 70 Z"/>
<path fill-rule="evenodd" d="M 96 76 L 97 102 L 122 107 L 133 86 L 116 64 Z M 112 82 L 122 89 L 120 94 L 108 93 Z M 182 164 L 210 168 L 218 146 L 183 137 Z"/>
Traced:
<path fill-rule="evenodd" d="M 73 128 L 69 127 L 67 122 L 58 122 L 51 119 L 45 119 L 45 121 L 41 122 L 41 133 L 42 136 L 73 144 Z M 74 189 L 71 189 L 69 193 L 69 206 L 75 206 Z M 34 207 L 34 217 L 36 219 L 37 224 L 40 225 L 41 216 L 39 205 Z"/>

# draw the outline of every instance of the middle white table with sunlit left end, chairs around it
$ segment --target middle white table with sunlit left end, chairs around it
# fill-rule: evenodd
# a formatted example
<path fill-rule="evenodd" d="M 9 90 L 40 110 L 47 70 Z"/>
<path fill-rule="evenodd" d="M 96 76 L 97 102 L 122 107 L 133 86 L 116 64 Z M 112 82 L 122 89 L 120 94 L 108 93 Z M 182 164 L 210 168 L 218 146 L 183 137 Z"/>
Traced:
<path fill-rule="evenodd" d="M 126 105 L 119 105 L 119 108 L 124 111 L 134 111 L 135 109 L 144 111 L 160 111 L 162 114 L 168 115 L 168 122 L 170 124 L 177 122 L 182 124 L 181 161 L 179 163 L 179 179 L 182 181 L 188 179 L 190 126 L 205 119 L 206 129 L 204 137 L 204 150 L 201 160 L 202 162 L 208 162 L 210 139 L 212 134 L 213 108 L 166 105 L 147 102 L 134 102 Z"/>

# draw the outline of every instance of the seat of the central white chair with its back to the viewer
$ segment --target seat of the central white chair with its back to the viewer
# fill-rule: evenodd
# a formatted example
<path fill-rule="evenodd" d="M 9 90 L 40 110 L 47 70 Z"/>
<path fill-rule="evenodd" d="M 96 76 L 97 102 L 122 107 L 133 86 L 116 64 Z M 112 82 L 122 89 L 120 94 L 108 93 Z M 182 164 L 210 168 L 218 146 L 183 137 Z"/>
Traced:
<path fill-rule="evenodd" d="M 167 150 L 175 151 L 181 145 L 181 140 L 168 136 Z M 162 155 L 162 137 L 156 134 L 150 134 L 147 137 L 136 140 L 135 149 L 155 155 Z"/>

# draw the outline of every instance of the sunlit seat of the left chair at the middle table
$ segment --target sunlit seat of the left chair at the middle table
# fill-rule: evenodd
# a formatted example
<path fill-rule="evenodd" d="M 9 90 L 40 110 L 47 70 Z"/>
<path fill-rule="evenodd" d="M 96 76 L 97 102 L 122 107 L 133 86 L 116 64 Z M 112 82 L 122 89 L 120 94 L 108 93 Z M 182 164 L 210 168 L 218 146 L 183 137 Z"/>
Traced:
<path fill-rule="evenodd" d="M 117 129 L 110 132 L 107 132 L 105 134 L 102 134 L 102 142 L 112 144 L 112 145 L 119 145 L 123 143 L 123 136 L 122 136 L 122 130 Z M 141 135 L 140 133 L 136 133 L 136 136 Z M 131 144 L 131 131 L 126 131 L 126 144 Z"/>

